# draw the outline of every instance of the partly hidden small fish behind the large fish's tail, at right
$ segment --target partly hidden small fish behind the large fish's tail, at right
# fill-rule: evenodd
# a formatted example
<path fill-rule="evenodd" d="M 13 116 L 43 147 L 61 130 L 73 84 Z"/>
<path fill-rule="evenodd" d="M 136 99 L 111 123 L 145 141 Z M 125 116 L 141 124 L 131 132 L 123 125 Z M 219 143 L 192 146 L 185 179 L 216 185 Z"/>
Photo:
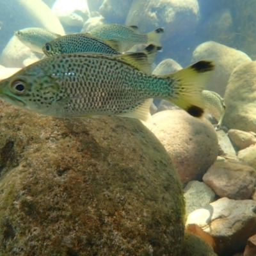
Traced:
<path fill-rule="evenodd" d="M 225 115 L 226 105 L 224 100 L 216 92 L 204 90 L 202 92 L 205 106 L 205 113 L 214 116 L 218 120 L 215 129 L 220 130 L 223 117 Z"/>

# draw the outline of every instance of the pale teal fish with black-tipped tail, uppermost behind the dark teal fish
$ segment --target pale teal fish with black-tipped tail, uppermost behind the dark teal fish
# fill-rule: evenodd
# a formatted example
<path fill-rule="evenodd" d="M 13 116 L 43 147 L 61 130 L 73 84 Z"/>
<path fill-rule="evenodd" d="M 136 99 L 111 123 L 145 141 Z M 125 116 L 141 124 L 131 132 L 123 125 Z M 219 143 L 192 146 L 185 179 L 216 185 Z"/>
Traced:
<path fill-rule="evenodd" d="M 136 44 L 154 44 L 157 50 L 162 49 L 161 38 L 163 28 L 157 28 L 147 34 L 140 34 L 137 26 L 123 26 L 119 24 L 104 24 L 90 30 L 90 35 L 102 40 L 118 40 L 121 43 L 122 52 L 128 51 Z"/>

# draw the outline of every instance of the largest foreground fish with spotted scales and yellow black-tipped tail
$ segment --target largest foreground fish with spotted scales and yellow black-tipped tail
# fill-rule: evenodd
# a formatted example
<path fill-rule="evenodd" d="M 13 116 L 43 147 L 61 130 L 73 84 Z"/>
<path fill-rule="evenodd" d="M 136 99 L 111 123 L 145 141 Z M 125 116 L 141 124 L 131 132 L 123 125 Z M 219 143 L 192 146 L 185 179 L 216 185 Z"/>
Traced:
<path fill-rule="evenodd" d="M 62 54 L 37 61 L 0 82 L 0 97 L 48 116 L 81 118 L 116 115 L 147 121 L 152 98 L 170 100 L 192 116 L 202 116 L 202 90 L 214 65 L 198 61 L 168 76 L 150 70 L 157 47 L 111 55 Z"/>

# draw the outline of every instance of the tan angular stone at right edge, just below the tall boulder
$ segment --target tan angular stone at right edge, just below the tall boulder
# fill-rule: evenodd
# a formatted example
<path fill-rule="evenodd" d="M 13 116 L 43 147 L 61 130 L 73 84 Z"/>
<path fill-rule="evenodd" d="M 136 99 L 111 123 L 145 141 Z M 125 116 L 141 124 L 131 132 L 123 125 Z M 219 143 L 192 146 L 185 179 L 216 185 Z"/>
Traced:
<path fill-rule="evenodd" d="M 250 145 L 256 144 L 256 137 L 250 132 L 230 129 L 228 130 L 228 137 L 237 150 L 241 150 L 250 147 Z"/>

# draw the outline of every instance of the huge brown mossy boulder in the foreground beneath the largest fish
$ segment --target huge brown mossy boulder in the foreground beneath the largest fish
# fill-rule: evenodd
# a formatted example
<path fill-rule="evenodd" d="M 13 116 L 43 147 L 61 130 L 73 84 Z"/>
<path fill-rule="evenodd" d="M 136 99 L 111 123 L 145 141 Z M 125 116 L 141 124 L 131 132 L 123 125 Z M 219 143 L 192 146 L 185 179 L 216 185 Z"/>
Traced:
<path fill-rule="evenodd" d="M 0 255 L 180 255 L 179 177 L 140 121 L 0 109 Z"/>

